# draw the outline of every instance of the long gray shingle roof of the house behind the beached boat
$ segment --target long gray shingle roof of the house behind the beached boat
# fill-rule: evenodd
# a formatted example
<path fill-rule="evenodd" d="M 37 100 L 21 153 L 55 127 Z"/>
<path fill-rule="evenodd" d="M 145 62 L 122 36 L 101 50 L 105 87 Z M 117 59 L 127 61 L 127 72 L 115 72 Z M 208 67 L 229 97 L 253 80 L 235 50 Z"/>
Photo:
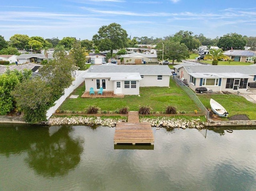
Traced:
<path fill-rule="evenodd" d="M 234 65 L 184 65 L 188 73 L 242 73 L 256 75 L 256 66 L 234 66 Z"/>

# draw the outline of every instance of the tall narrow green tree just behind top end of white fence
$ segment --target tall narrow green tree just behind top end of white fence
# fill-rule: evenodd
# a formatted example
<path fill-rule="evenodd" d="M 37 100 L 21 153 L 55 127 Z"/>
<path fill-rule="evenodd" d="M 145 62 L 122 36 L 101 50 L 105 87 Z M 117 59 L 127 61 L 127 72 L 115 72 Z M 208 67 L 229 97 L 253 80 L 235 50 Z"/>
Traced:
<path fill-rule="evenodd" d="M 70 55 L 73 57 L 75 64 L 79 70 L 86 70 L 86 52 L 84 47 L 81 47 L 80 41 L 75 41 L 73 48 L 70 50 Z"/>

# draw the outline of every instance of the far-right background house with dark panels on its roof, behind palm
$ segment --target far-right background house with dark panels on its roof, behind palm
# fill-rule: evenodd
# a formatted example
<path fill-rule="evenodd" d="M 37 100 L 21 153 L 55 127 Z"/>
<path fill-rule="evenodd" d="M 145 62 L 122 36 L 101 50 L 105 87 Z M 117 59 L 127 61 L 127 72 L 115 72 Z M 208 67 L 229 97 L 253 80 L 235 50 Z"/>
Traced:
<path fill-rule="evenodd" d="M 252 57 L 256 56 L 256 52 L 252 50 L 228 50 L 223 54 L 239 62 L 253 62 Z"/>

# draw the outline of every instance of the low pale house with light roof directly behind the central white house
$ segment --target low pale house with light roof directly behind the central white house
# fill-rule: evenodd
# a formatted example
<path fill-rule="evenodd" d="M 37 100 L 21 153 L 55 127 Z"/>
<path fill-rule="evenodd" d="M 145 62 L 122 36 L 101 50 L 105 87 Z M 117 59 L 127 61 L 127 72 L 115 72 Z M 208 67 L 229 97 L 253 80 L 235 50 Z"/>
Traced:
<path fill-rule="evenodd" d="M 138 52 L 134 52 L 132 54 L 120 55 L 120 58 L 124 58 L 122 63 L 129 64 L 142 64 L 144 62 L 157 63 L 157 55 L 156 54 L 142 54 Z"/>

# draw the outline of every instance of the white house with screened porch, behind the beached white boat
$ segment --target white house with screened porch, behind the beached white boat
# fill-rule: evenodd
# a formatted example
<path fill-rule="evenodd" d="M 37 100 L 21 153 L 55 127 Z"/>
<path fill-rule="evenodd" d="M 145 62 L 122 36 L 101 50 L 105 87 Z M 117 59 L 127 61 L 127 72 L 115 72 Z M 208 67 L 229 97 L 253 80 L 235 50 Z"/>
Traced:
<path fill-rule="evenodd" d="M 256 66 L 227 65 L 184 65 L 179 68 L 178 77 L 197 87 L 208 87 L 214 92 L 246 92 L 256 82 Z"/>

